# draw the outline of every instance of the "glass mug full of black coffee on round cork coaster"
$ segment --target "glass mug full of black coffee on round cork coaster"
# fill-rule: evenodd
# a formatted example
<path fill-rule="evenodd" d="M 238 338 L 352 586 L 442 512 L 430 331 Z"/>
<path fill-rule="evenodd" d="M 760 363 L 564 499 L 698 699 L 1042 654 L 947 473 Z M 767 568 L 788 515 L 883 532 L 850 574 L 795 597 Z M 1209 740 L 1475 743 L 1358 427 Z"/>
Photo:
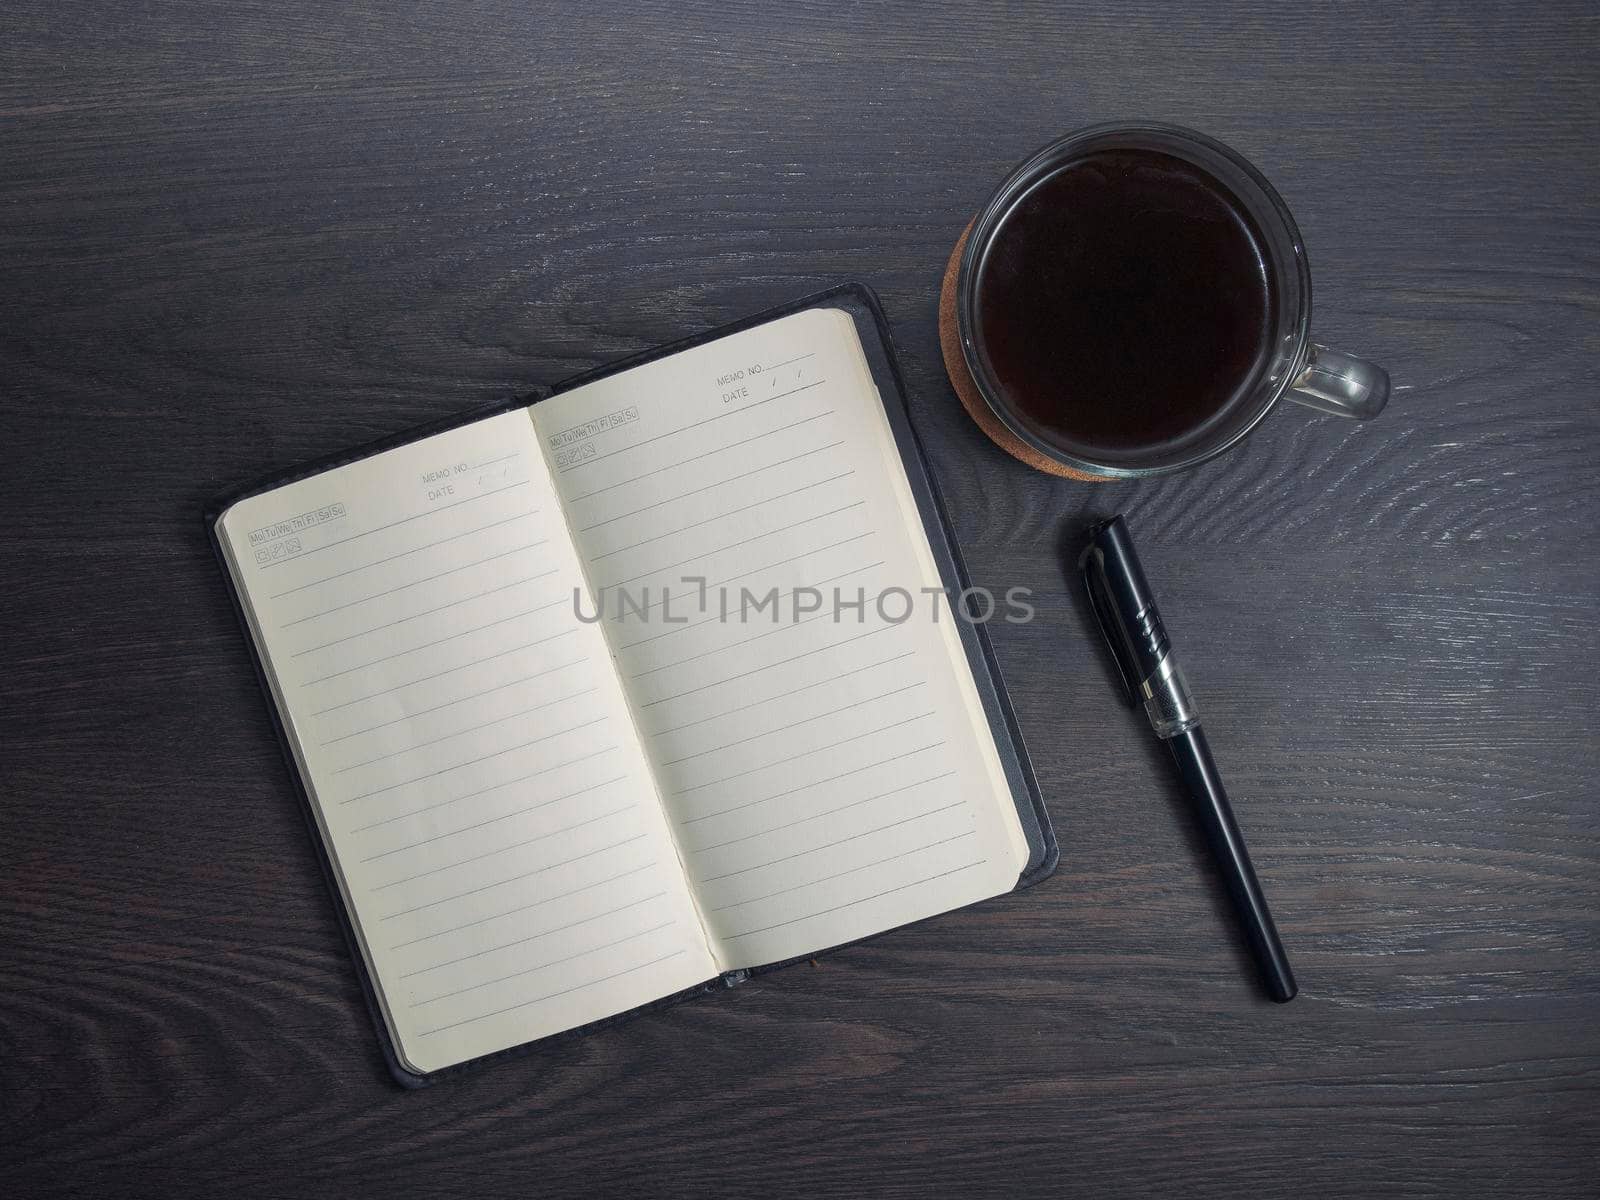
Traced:
<path fill-rule="evenodd" d="M 1272 186 L 1176 126 L 1096 126 L 1019 166 L 957 277 L 962 357 L 1026 448 L 1136 477 L 1237 445 L 1278 398 L 1373 416 L 1382 368 L 1309 341 L 1310 274 Z"/>

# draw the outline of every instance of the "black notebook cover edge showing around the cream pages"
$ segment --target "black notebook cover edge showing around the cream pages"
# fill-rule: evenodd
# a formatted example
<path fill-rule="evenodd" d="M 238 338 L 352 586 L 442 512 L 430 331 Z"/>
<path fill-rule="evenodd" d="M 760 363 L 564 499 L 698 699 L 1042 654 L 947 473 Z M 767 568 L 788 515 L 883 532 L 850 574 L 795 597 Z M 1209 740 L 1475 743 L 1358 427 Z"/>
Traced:
<path fill-rule="evenodd" d="M 666 358 L 669 355 L 678 354 L 694 346 L 704 342 L 717 341 L 718 338 L 726 338 L 730 334 L 739 333 L 742 330 L 754 328 L 757 325 L 766 325 L 781 317 L 789 317 L 806 309 L 838 309 L 851 317 L 856 326 L 856 334 L 861 339 L 861 347 L 867 355 L 867 363 L 872 370 L 872 381 L 878 389 L 878 395 L 883 400 L 883 411 L 886 413 L 890 424 L 894 430 L 894 440 L 899 446 L 901 459 L 906 467 L 906 477 L 910 482 L 912 493 L 917 499 L 918 514 L 922 517 L 923 530 L 928 536 L 928 544 L 933 550 L 934 562 L 939 568 L 939 576 L 944 586 L 952 595 L 960 595 L 970 587 L 970 579 L 966 568 L 962 563 L 960 549 L 955 544 L 955 538 L 950 531 L 949 517 L 944 509 L 944 502 L 939 496 L 938 485 L 928 470 L 926 456 L 922 450 L 922 443 L 917 438 L 917 430 L 910 421 L 910 408 L 906 395 L 904 379 L 901 376 L 899 363 L 894 358 L 894 347 L 888 331 L 888 322 L 883 318 L 883 309 L 878 304 L 877 296 L 870 288 L 861 283 L 843 283 L 826 291 L 798 299 L 792 304 L 784 304 L 765 312 L 746 317 L 744 320 L 733 322 L 730 325 L 722 325 L 715 330 L 696 334 L 693 338 L 685 338 L 667 346 L 658 346 L 643 354 L 637 354 L 627 358 L 621 358 L 613 363 L 606 363 L 594 371 L 586 371 L 582 374 L 563 379 L 555 387 L 530 390 L 525 395 L 512 397 L 493 405 L 485 405 L 478 408 L 467 410 L 464 413 L 445 418 L 442 421 L 430 421 L 427 424 L 413 426 L 398 434 L 394 434 L 376 442 L 368 442 L 362 446 L 355 446 L 338 454 L 330 454 L 326 458 L 317 459 L 314 462 L 302 464 L 286 472 L 275 474 L 269 478 L 256 480 L 254 483 L 230 491 L 224 496 L 214 499 L 205 510 L 206 536 L 211 539 L 211 549 L 216 554 L 218 565 L 222 570 L 222 578 L 229 584 L 229 595 L 234 602 L 234 611 L 238 618 L 240 629 L 245 632 L 245 643 L 250 646 L 251 661 L 256 667 L 256 678 L 261 685 L 261 691 L 267 699 L 267 710 L 272 717 L 274 730 L 278 736 L 278 744 L 283 752 L 283 760 L 290 768 L 290 778 L 294 782 L 294 792 L 299 797 L 301 813 L 306 818 L 307 829 L 312 835 L 312 845 L 317 850 L 317 859 L 322 864 L 323 878 L 328 883 L 328 891 L 334 899 L 334 909 L 339 914 L 339 923 L 344 930 L 346 942 L 350 950 L 350 957 L 355 962 L 357 973 L 362 979 L 362 992 L 366 997 L 366 1006 L 371 1013 L 373 1024 L 378 1027 L 379 1042 L 382 1045 L 384 1058 L 389 1064 L 389 1070 L 394 1077 L 408 1088 L 426 1086 L 440 1078 L 459 1074 L 462 1070 L 470 1070 L 485 1062 L 496 1059 L 514 1058 L 526 1054 L 533 1046 L 542 1045 L 546 1042 L 565 1040 L 571 1037 L 579 1037 L 582 1034 L 594 1032 L 618 1021 L 629 1019 L 638 1013 L 661 1008 L 664 1005 L 677 1003 L 691 995 L 702 992 L 720 990 L 725 986 L 733 986 L 750 974 L 762 974 L 766 971 L 778 970 L 779 966 L 787 966 L 797 958 L 790 958 L 781 963 L 770 963 L 766 966 L 758 966 L 749 971 L 730 971 L 720 981 L 712 981 L 699 987 L 691 987 L 677 995 L 662 997 L 640 1008 L 634 1008 L 627 1013 L 618 1013 L 616 1016 L 608 1016 L 600 1021 L 579 1026 L 576 1029 L 568 1029 L 562 1034 L 554 1034 L 538 1042 L 528 1042 L 520 1046 L 512 1046 L 509 1050 L 501 1050 L 493 1054 L 485 1054 L 482 1058 L 470 1059 L 467 1062 L 459 1062 L 451 1067 L 443 1067 L 429 1074 L 418 1074 L 410 1070 L 395 1051 L 395 1046 L 389 1037 L 389 1027 L 382 1019 L 378 994 L 373 979 L 366 971 L 366 960 L 360 952 L 357 942 L 355 928 L 350 922 L 350 915 L 346 910 L 344 899 L 339 893 L 338 883 L 334 882 L 333 862 L 328 856 L 328 848 L 323 845 L 322 834 L 317 827 L 317 819 L 312 811 L 310 795 L 306 790 L 306 784 L 301 779 L 299 768 L 294 763 L 294 754 L 290 747 L 288 731 L 283 728 L 283 718 L 278 714 L 277 702 L 272 698 L 272 690 L 267 683 L 266 666 L 256 648 L 254 638 L 250 635 L 250 626 L 245 619 L 245 610 L 240 602 L 238 594 L 234 590 L 232 576 L 227 570 L 227 562 L 222 554 L 222 542 L 218 538 L 218 520 L 227 510 L 229 506 L 248 498 L 256 496 L 264 491 L 272 491 L 283 486 L 285 483 L 293 483 L 310 475 L 317 475 L 323 470 L 333 467 L 341 467 L 349 462 L 355 462 L 373 454 L 379 454 L 386 450 L 394 450 L 395 446 L 406 445 L 410 442 L 421 440 L 424 437 L 432 437 L 434 434 L 442 434 L 448 429 L 456 429 L 459 426 L 470 424 L 474 421 L 482 421 L 483 418 L 494 416 L 498 413 L 506 413 L 515 408 L 526 408 L 531 403 L 538 403 L 549 395 L 560 392 L 568 392 L 582 384 L 594 382 L 610 374 L 626 371 L 634 366 L 642 366 L 643 363 L 654 362 L 658 358 Z M 662 400 L 662 403 L 670 403 L 670 398 Z M 958 621 L 957 627 L 962 637 L 962 646 L 966 651 L 966 659 L 973 672 L 973 682 L 978 686 L 979 698 L 982 699 L 984 714 L 989 718 L 989 726 L 994 734 L 995 749 L 1000 754 L 1000 762 L 1005 768 L 1006 781 L 1011 786 L 1011 800 L 1016 805 L 1018 819 L 1021 821 L 1022 832 L 1027 838 L 1029 859 L 1022 874 L 1018 877 L 1018 888 L 1026 888 L 1038 880 L 1045 878 L 1056 869 L 1059 859 L 1059 850 L 1056 846 L 1056 835 L 1050 826 L 1050 814 L 1045 810 L 1043 797 L 1038 790 L 1038 781 L 1034 778 L 1034 766 L 1029 762 L 1027 749 L 1022 744 L 1022 733 L 1016 723 L 1016 714 L 1011 710 L 1011 701 L 1006 696 L 1005 683 L 1000 677 L 1000 667 L 995 661 L 994 646 L 989 642 L 989 632 L 982 624 L 973 621 Z M 882 934 L 874 934 L 882 936 Z M 834 950 L 843 947 L 830 947 Z M 813 958 L 816 955 L 803 955 L 802 958 Z"/>

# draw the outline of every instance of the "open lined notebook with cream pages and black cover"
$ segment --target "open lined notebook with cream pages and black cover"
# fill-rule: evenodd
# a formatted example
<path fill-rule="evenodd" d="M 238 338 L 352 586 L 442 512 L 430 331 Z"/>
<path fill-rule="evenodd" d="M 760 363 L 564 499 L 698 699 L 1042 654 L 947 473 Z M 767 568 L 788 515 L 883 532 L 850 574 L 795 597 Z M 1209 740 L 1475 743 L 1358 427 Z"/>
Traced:
<path fill-rule="evenodd" d="M 211 514 L 402 1080 L 1053 866 L 866 304 Z"/>

